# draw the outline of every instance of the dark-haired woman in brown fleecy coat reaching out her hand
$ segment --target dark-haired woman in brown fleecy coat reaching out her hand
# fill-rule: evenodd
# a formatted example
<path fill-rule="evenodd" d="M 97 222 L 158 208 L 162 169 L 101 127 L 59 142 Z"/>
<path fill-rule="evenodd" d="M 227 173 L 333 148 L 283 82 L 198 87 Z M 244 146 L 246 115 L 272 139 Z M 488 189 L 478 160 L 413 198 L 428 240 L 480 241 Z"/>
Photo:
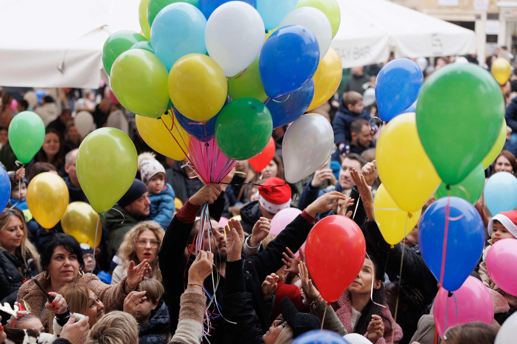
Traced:
<path fill-rule="evenodd" d="M 109 285 L 102 283 L 96 275 L 84 273 L 83 253 L 77 240 L 71 235 L 55 234 L 47 243 L 41 255 L 43 272 L 36 276 L 47 292 L 57 292 L 65 283 L 79 282 L 90 284 L 99 298 L 104 301 L 107 312 L 113 309 L 123 309 L 124 299 L 127 294 L 139 287 L 144 275 L 149 268 L 147 260 L 138 266 L 133 262 L 129 264 L 128 274 L 118 284 Z M 32 280 L 25 282 L 18 291 L 18 300 L 24 300 L 31 306 L 32 312 L 39 316 L 49 329 L 50 312 L 45 312 L 46 298 Z M 13 320 L 13 318 L 11 318 Z"/>

